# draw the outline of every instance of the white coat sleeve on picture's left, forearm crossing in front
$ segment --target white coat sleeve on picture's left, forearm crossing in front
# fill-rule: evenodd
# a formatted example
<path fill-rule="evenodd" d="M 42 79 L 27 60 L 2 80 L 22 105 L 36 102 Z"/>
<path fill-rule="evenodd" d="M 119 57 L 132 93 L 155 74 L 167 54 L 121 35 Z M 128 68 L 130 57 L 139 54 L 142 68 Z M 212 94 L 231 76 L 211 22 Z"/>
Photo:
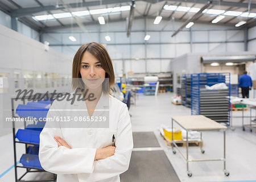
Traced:
<path fill-rule="evenodd" d="M 51 109 L 55 109 L 53 102 Z M 60 116 L 57 111 L 48 111 L 47 118 Z M 48 172 L 56 174 L 92 173 L 96 148 L 72 148 L 57 146 L 54 136 L 62 138 L 61 129 L 52 128 L 51 122 L 40 134 L 39 160 L 41 166 Z"/>

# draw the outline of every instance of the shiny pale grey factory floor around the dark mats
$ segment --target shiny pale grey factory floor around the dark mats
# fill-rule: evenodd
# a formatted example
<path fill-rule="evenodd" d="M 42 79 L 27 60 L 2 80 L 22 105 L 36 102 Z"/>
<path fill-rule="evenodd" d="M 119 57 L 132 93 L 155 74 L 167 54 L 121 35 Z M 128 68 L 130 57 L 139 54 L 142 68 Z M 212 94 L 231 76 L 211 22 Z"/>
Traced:
<path fill-rule="evenodd" d="M 170 160 L 180 181 L 256 181 L 256 130 L 242 131 L 241 118 L 233 118 L 234 130 L 226 132 L 226 169 L 230 176 L 225 176 L 223 162 L 193 162 L 189 163 L 192 177 L 186 173 L 186 164 L 179 153 L 172 154 L 159 134 L 160 124 L 171 125 L 174 115 L 191 115 L 188 107 L 171 104 L 173 93 L 164 93 L 159 96 L 143 96 L 139 94 L 135 105 L 131 105 L 130 114 L 133 131 L 154 131 L 160 147 Z M 241 111 L 233 112 L 233 117 L 241 116 Z M 245 111 L 249 116 L 249 111 Z M 254 113 L 255 115 L 255 113 Z M 249 123 L 249 118 L 245 118 Z M 189 147 L 189 158 L 222 158 L 223 133 L 219 131 L 205 131 L 203 133 L 205 154 L 201 154 L 199 147 Z M 0 175 L 14 164 L 13 135 L 12 133 L 0 137 Z M 185 147 L 180 147 L 185 152 Z M 24 144 L 17 144 L 17 158 L 24 152 Z M 19 170 L 19 174 L 24 170 Z M 36 174 L 33 174 L 36 175 Z M 14 181 L 14 169 L 10 169 L 0 178 L 0 181 Z M 168 180 L 169 181 L 169 180 Z M 170 180 L 171 181 L 171 180 Z"/>

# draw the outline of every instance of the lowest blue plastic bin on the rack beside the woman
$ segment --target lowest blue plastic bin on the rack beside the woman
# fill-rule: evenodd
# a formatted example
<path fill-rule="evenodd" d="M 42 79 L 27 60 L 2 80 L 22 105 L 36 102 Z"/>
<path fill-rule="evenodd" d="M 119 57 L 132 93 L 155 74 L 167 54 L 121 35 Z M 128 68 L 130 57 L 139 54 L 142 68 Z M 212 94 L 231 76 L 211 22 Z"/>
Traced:
<path fill-rule="evenodd" d="M 38 155 L 23 154 L 22 157 L 20 158 L 20 163 L 22 163 L 24 167 L 43 169 L 40 164 Z"/>

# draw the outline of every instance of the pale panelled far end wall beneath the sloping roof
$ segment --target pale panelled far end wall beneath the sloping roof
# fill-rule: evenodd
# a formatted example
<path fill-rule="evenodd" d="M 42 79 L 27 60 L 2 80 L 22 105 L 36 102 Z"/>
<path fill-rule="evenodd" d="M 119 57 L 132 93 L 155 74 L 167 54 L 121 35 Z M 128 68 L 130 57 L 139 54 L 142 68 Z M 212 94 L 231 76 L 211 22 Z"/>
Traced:
<path fill-rule="evenodd" d="M 147 19 L 145 27 L 144 19 L 135 19 L 129 38 L 126 36 L 126 23 L 114 22 L 103 26 L 87 25 L 86 33 L 79 27 L 73 27 L 72 35 L 77 42 L 71 42 L 68 39 L 71 28 L 47 32 L 43 34 L 42 40 L 47 40 L 50 46 L 70 56 L 75 55 L 83 43 L 93 41 L 104 44 L 115 61 L 116 74 L 123 72 L 122 60 L 125 62 L 124 73 L 163 72 L 171 71 L 171 67 L 165 67 L 161 61 L 168 62 L 166 65 L 170 65 L 171 59 L 186 53 L 228 53 L 241 52 L 245 49 L 244 31 L 241 28 L 196 23 L 191 28 L 192 32 L 184 29 L 171 37 L 173 30 L 177 30 L 183 22 L 172 24 L 171 21 L 162 20 L 160 24 L 155 25 L 153 21 L 154 19 Z M 255 30 L 250 32 L 256 34 Z M 145 44 L 146 34 L 151 38 Z M 110 42 L 105 40 L 106 35 L 110 36 Z M 65 49 L 67 46 L 68 50 Z M 136 59 L 139 60 L 136 61 Z"/>

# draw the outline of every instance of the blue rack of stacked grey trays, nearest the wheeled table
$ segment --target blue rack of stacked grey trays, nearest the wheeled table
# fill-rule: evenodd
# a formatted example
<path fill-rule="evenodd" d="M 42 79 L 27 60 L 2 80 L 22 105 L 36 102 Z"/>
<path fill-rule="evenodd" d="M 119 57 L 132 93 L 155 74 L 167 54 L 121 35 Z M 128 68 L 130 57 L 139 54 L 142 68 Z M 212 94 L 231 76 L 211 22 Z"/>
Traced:
<path fill-rule="evenodd" d="M 228 89 L 208 90 L 224 82 Z M 195 73 L 191 75 L 191 114 L 205 115 L 216 122 L 230 125 L 230 73 Z"/>

